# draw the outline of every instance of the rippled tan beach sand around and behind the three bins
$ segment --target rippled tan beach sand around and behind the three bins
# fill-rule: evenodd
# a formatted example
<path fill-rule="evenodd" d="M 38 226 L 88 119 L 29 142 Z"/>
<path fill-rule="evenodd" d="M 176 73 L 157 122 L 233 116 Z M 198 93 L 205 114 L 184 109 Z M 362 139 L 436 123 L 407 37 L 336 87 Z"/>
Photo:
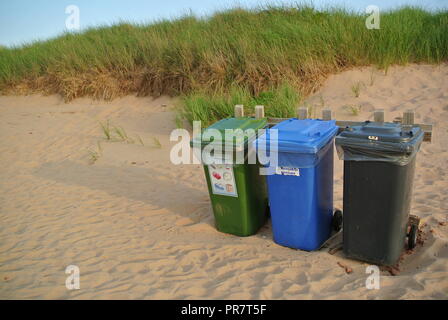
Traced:
<path fill-rule="evenodd" d="M 169 159 L 176 103 L 0 96 L 1 299 L 448 298 L 448 65 L 354 69 L 306 100 L 341 120 L 384 109 L 392 121 L 412 109 L 434 125 L 411 207 L 424 243 L 397 275 L 381 271 L 379 290 L 365 286 L 367 263 L 276 245 L 269 222 L 247 238 L 216 231 L 202 166 Z M 128 141 L 107 141 L 107 120 Z M 342 208 L 343 163 L 334 163 Z M 68 265 L 80 269 L 80 290 L 65 286 Z"/>

